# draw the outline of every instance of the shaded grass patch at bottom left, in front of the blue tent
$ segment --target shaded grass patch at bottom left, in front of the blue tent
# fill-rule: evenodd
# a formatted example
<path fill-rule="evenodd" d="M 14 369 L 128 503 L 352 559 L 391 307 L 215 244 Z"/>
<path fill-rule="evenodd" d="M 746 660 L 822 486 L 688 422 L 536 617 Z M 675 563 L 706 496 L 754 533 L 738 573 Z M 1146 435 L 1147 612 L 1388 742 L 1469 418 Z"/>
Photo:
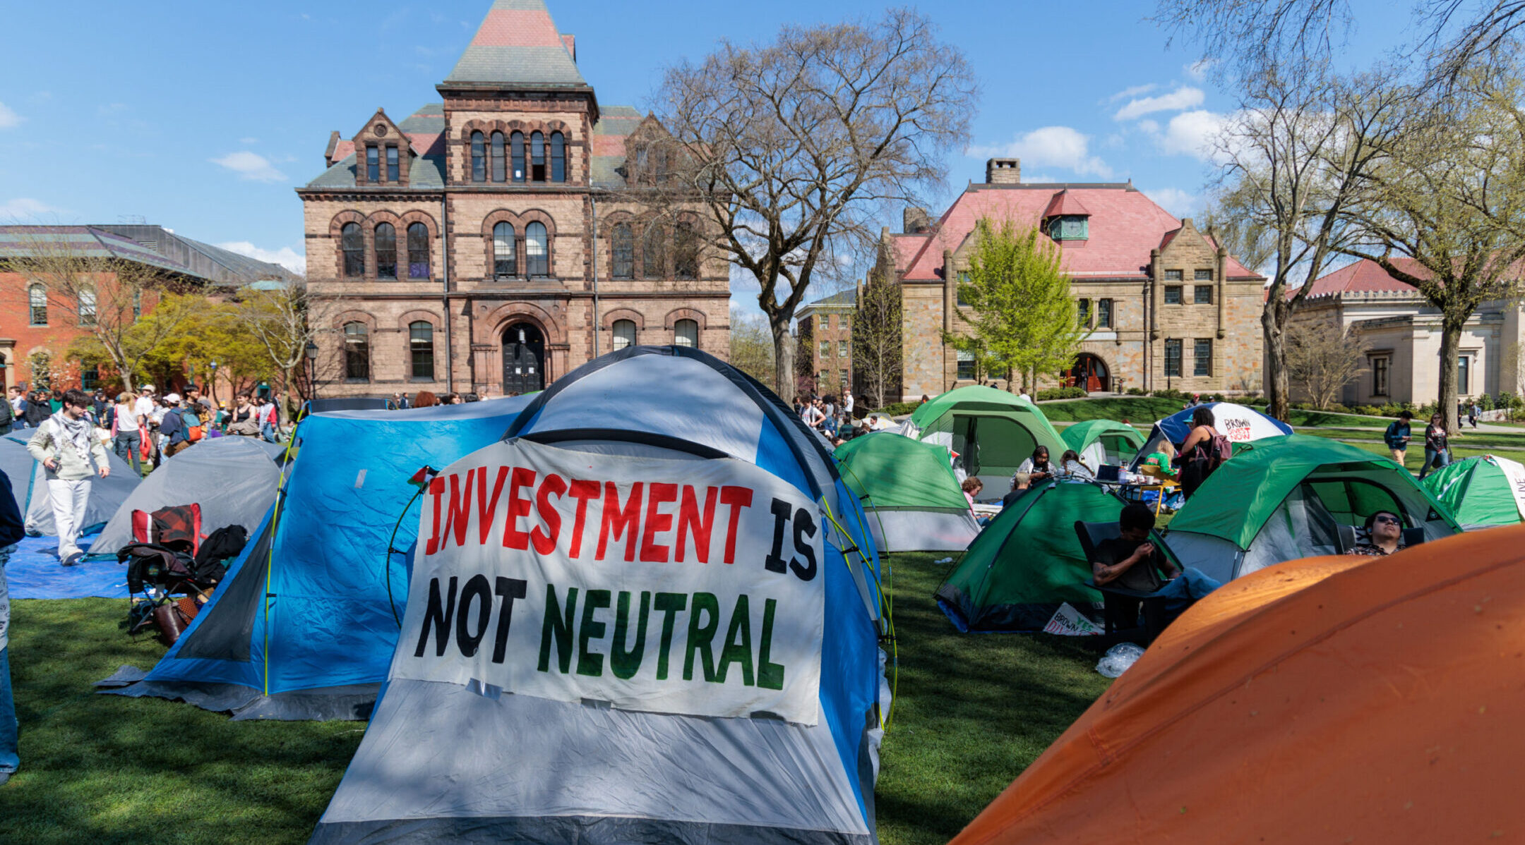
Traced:
<path fill-rule="evenodd" d="M 5 839 L 305 842 L 364 725 L 230 722 L 185 703 L 96 694 L 165 647 L 120 632 L 125 600 L 14 601 L 21 770 L 0 789 Z"/>

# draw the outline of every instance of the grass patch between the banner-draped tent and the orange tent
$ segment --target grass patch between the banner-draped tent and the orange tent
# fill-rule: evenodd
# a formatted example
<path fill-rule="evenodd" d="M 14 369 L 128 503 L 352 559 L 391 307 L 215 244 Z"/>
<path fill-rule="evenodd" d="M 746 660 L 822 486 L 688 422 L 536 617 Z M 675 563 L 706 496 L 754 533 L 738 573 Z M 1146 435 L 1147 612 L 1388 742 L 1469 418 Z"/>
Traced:
<path fill-rule="evenodd" d="M 1084 639 L 959 633 L 932 594 L 947 565 L 892 559 L 900 679 L 875 792 L 886 845 L 964 828 L 1106 691 Z"/>

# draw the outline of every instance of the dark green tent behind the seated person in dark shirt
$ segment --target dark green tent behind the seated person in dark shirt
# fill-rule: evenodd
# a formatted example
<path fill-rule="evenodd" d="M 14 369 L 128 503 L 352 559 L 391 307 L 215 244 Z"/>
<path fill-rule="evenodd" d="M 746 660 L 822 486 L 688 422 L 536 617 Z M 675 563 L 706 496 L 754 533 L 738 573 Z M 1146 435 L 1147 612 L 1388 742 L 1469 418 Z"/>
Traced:
<path fill-rule="evenodd" d="M 1101 594 L 1084 586 L 1090 562 L 1075 521 L 1115 522 L 1124 504 L 1086 481 L 1028 490 L 968 545 L 938 588 L 938 606 L 959 630 L 1043 630 L 1064 601 L 1100 607 Z"/>

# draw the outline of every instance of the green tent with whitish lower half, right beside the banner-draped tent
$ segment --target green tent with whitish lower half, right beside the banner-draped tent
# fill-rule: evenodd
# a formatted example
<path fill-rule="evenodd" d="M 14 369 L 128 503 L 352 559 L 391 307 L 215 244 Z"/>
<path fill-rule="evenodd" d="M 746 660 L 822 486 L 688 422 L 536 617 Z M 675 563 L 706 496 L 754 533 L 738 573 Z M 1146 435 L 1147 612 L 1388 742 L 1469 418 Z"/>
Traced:
<path fill-rule="evenodd" d="M 942 446 L 875 431 L 837 446 L 880 551 L 964 551 L 979 525 Z"/>

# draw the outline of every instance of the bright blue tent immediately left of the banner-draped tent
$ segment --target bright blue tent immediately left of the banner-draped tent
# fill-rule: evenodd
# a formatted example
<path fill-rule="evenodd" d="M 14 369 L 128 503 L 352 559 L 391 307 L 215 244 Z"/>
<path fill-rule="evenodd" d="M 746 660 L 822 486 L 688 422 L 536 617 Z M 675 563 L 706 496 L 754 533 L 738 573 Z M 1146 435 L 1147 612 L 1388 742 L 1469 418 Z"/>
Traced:
<path fill-rule="evenodd" d="M 111 691 L 235 719 L 364 719 L 407 601 L 406 556 L 387 548 L 418 531 L 409 478 L 500 438 L 529 400 L 303 419 L 282 496 L 212 601 L 159 665 L 124 667 L 108 682 L 139 682 Z"/>

